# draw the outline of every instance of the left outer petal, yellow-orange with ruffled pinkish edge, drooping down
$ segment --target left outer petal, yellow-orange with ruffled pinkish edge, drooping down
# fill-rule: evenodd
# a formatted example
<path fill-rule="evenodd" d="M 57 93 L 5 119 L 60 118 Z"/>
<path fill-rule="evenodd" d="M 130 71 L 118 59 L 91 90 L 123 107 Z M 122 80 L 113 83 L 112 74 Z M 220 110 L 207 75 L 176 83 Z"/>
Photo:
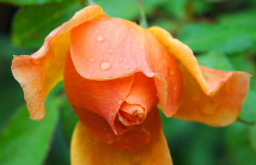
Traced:
<path fill-rule="evenodd" d="M 70 43 L 69 30 L 104 16 L 100 6 L 88 6 L 53 30 L 37 52 L 30 56 L 14 56 L 12 74 L 24 91 L 31 119 L 44 118 L 44 99 L 50 89 L 63 79 L 64 61 Z"/>

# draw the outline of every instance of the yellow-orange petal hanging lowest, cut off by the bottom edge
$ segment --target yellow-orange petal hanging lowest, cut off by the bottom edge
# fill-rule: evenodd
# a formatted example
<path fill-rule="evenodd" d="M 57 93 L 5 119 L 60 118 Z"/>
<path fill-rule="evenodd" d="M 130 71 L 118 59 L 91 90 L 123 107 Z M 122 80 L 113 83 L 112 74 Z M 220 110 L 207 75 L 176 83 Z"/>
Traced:
<path fill-rule="evenodd" d="M 151 133 L 148 144 L 134 151 L 122 151 L 95 138 L 78 123 L 71 142 L 71 165 L 172 165 L 158 111 L 149 113 L 145 123 Z M 115 139 L 115 143 L 118 139 Z M 137 137 L 136 140 L 140 140 Z M 126 141 L 122 141 L 126 143 Z"/>

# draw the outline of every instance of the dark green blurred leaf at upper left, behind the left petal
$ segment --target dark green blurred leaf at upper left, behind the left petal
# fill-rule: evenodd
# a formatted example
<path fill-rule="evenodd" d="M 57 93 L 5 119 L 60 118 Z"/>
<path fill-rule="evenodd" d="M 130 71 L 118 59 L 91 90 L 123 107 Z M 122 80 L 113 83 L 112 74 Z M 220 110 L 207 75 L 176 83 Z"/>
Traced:
<path fill-rule="evenodd" d="M 28 6 L 20 9 L 12 23 L 12 42 L 38 49 L 44 38 L 55 28 L 68 21 L 82 6 L 76 0 L 47 6 Z"/>

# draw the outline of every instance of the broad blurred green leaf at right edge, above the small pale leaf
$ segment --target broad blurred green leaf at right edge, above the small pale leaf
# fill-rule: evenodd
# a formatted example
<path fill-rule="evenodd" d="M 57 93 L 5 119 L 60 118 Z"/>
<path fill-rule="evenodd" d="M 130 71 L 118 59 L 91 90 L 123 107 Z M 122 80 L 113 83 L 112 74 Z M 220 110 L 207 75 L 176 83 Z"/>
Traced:
<path fill-rule="evenodd" d="M 178 38 L 194 52 L 218 50 L 231 54 L 251 48 L 256 31 L 229 24 L 190 24 L 182 28 Z"/>

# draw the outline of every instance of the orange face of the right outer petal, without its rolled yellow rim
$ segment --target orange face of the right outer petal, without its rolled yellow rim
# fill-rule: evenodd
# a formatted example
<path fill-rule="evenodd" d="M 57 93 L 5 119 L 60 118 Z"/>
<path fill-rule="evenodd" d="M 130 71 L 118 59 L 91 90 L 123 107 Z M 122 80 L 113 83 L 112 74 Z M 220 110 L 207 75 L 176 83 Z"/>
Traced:
<path fill-rule="evenodd" d="M 206 95 L 192 74 L 186 69 L 182 70 L 186 82 L 184 97 L 174 117 L 212 126 L 233 123 L 248 92 L 250 74 L 200 68 L 208 86 L 214 87 L 216 94 Z"/>

